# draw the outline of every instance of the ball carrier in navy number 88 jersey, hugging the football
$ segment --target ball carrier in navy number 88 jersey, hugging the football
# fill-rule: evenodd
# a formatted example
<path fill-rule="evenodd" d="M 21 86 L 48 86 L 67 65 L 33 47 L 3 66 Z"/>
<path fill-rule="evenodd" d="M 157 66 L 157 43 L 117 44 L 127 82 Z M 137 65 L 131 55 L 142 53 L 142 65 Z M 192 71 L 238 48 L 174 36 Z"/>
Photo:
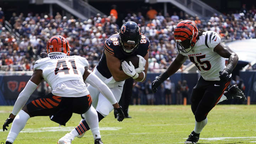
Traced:
<path fill-rule="evenodd" d="M 133 78 L 139 82 L 145 80 L 148 69 L 149 48 L 149 39 L 142 35 L 137 23 L 128 21 L 122 25 L 119 33 L 113 34 L 105 41 L 101 59 L 92 73 L 97 75 L 110 88 L 116 100 L 119 101 L 124 80 L 128 78 Z M 123 61 L 121 63 L 122 60 L 131 55 L 139 57 L 139 67 L 136 69 L 131 62 Z M 120 70 L 121 66 L 122 70 Z M 113 106 L 102 95 L 101 91 L 95 89 L 95 87 L 89 85 L 87 89 L 92 98 L 92 106 L 96 108 L 98 113 L 98 121 L 101 121 L 113 110 Z M 123 118 L 121 119 L 117 115 L 117 120 L 122 121 Z M 86 130 L 90 129 L 86 120 L 82 119 L 70 134 L 81 138 L 85 133 L 79 130 L 81 126 L 85 126 Z M 64 136 L 61 139 L 73 140 L 74 137 Z"/>

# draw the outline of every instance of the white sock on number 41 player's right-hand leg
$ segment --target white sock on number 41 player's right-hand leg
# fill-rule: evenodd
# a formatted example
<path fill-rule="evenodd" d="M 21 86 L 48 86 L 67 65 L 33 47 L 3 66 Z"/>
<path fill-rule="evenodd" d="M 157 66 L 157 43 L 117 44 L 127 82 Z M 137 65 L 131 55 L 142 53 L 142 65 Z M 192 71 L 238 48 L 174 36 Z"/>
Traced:
<path fill-rule="evenodd" d="M 98 114 L 95 108 L 91 106 L 90 109 L 83 114 L 83 116 L 85 116 L 85 120 L 91 129 L 94 139 L 101 138 L 100 128 L 98 126 Z"/>

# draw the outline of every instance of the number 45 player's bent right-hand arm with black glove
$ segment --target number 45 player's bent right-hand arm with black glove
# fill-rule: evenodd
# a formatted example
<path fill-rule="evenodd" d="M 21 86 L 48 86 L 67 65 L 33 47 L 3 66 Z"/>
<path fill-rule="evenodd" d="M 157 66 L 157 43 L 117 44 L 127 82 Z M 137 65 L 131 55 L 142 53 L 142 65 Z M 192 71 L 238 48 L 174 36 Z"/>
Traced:
<path fill-rule="evenodd" d="M 220 71 L 220 80 L 227 81 L 229 80 L 229 75 L 232 73 L 236 64 L 238 63 L 238 55 L 233 52 L 225 44 L 219 43 L 214 49 L 214 52 L 218 53 L 223 58 L 228 58 L 228 65 L 223 71 Z"/>

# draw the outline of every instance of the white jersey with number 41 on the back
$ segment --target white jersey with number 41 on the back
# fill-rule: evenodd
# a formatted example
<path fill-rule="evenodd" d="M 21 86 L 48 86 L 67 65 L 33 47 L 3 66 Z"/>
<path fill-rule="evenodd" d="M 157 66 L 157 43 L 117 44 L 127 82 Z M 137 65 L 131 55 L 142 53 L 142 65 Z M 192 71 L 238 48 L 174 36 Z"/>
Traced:
<path fill-rule="evenodd" d="M 41 69 L 43 78 L 52 87 L 52 94 L 63 97 L 89 95 L 82 78 L 88 61 L 80 56 L 55 55 L 37 60 L 34 71 Z"/>

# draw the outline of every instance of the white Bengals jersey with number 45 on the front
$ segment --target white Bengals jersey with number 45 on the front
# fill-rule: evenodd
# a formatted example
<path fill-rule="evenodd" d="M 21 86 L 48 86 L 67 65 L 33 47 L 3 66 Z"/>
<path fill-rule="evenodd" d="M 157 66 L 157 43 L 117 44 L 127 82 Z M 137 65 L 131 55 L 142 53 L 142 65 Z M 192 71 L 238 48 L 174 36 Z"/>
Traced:
<path fill-rule="evenodd" d="M 194 63 L 204 80 L 215 81 L 219 79 L 219 71 L 225 68 L 225 58 L 213 49 L 220 43 L 219 35 L 214 31 L 203 32 L 195 46 L 188 53 L 179 52 L 187 56 Z"/>

